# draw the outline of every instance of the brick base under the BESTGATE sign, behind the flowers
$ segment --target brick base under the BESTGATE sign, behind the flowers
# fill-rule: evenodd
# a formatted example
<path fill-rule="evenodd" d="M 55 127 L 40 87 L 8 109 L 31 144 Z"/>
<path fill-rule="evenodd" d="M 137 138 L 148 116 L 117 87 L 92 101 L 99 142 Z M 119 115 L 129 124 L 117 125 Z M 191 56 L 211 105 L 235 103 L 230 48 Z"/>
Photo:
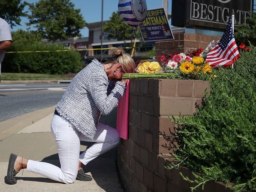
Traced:
<path fill-rule="evenodd" d="M 205 49 L 211 40 L 220 40 L 221 37 L 191 34 L 191 33 L 174 33 L 174 40 L 158 41 L 155 43 L 156 54 L 160 55 L 162 51 L 173 51 L 178 53 L 189 53 L 198 48 Z"/>

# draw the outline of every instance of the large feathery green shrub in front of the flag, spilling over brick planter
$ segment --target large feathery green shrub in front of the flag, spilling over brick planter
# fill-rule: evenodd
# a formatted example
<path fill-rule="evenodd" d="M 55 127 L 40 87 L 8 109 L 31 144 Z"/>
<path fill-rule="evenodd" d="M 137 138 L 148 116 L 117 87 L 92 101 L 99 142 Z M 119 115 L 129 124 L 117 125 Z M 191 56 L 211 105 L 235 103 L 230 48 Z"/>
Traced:
<path fill-rule="evenodd" d="M 168 168 L 185 166 L 200 173 L 194 173 L 195 180 L 184 177 L 196 187 L 214 180 L 235 183 L 235 192 L 256 190 L 256 47 L 250 48 L 234 69 L 214 70 L 211 94 L 197 106 L 198 113 L 170 118 L 179 127 L 163 134 L 174 139 L 168 147 L 177 149 L 179 161 Z"/>

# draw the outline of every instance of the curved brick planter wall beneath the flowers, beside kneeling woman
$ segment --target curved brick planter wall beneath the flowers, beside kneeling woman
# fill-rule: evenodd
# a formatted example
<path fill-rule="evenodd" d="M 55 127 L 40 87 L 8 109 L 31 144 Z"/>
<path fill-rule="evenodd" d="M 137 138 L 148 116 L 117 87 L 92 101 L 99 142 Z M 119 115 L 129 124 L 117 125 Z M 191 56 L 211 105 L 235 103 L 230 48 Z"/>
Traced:
<path fill-rule="evenodd" d="M 192 177 L 188 169 L 166 170 L 173 160 L 167 141 L 159 131 L 169 133 L 175 125 L 168 115 L 193 115 L 195 103 L 201 103 L 208 81 L 173 79 L 132 79 L 129 99 L 129 139 L 117 149 L 117 166 L 126 192 L 189 192 Z M 208 183 L 205 191 L 225 191 L 222 183 Z M 213 190 L 216 189 L 216 190 Z"/>

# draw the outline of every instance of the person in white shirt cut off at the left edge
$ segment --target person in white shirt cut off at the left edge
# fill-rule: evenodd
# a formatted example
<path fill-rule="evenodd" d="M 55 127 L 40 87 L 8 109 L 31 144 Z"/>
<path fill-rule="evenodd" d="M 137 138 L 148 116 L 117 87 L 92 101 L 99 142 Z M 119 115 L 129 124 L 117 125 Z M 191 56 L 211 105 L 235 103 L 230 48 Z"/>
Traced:
<path fill-rule="evenodd" d="M 4 59 L 5 50 L 12 44 L 12 35 L 8 23 L 0 17 L 0 82 L 1 82 L 1 65 Z"/>

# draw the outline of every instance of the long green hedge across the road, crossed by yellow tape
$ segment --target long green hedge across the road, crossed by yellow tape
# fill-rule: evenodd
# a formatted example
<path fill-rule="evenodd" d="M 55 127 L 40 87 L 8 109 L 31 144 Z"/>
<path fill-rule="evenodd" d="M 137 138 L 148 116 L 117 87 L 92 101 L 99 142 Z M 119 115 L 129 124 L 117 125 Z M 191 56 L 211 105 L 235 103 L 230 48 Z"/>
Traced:
<path fill-rule="evenodd" d="M 66 74 L 81 70 L 81 55 L 76 51 L 65 50 L 62 45 L 46 45 L 36 34 L 23 30 L 12 33 L 12 38 L 13 44 L 8 52 L 41 52 L 7 52 L 2 65 L 3 72 Z"/>

